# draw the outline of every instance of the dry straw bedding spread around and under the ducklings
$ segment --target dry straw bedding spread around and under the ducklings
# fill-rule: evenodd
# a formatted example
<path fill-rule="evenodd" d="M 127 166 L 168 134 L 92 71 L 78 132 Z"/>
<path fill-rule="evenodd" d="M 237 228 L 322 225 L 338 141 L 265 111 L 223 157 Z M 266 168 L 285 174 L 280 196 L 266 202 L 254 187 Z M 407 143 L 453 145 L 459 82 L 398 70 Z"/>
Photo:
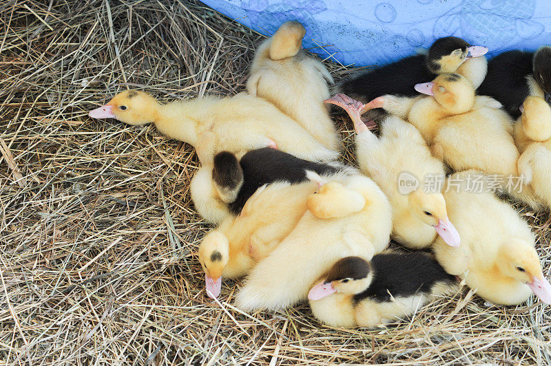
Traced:
<path fill-rule="evenodd" d="M 245 314 L 239 282 L 211 301 L 194 149 L 87 111 L 126 88 L 236 94 L 262 36 L 188 1 L 4 0 L 0 17 L 0 365 L 551 363 L 534 299 L 464 289 L 377 330 L 326 327 L 306 304 Z M 548 214 L 522 212 L 550 277 Z"/>

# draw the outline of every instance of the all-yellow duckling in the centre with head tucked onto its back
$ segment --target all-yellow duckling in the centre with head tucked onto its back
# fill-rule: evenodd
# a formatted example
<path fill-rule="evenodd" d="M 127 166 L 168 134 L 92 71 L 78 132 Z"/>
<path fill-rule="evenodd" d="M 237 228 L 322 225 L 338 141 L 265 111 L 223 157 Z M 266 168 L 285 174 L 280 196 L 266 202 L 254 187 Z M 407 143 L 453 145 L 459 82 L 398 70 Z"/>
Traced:
<path fill-rule="evenodd" d="M 388 246 L 391 206 L 368 177 L 331 177 L 306 202 L 297 226 L 256 265 L 236 303 L 243 309 L 282 309 L 306 299 L 309 289 L 342 257 L 371 257 Z"/>

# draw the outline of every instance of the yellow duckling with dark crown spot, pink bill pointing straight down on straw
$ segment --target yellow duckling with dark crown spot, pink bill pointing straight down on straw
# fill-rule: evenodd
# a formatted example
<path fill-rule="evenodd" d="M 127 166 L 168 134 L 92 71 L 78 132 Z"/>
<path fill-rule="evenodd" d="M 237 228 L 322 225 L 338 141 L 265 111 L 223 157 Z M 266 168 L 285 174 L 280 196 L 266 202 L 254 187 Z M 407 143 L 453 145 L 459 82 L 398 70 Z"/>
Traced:
<path fill-rule="evenodd" d="M 237 217 L 227 217 L 211 230 L 199 246 L 209 297 L 220 294 L 223 278 L 235 279 L 249 272 L 269 255 L 306 212 L 306 200 L 318 184 L 275 182 L 254 193 Z"/>

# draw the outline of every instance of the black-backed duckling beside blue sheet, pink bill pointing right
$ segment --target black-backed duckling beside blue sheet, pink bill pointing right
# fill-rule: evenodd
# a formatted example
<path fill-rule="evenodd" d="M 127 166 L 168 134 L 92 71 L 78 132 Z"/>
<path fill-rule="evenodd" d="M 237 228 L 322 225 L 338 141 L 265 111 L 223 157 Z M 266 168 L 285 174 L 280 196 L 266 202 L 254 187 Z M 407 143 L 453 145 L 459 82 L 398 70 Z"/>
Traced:
<path fill-rule="evenodd" d="M 346 94 L 362 103 L 385 94 L 413 98 L 417 96 L 413 89 L 415 84 L 433 80 L 446 72 L 466 76 L 476 88 L 486 76 L 486 52 L 486 47 L 469 45 L 454 36 L 444 37 L 437 39 L 426 55 L 416 54 L 345 78 L 337 84 L 335 92 Z M 369 115 L 375 116 L 377 114 Z"/>

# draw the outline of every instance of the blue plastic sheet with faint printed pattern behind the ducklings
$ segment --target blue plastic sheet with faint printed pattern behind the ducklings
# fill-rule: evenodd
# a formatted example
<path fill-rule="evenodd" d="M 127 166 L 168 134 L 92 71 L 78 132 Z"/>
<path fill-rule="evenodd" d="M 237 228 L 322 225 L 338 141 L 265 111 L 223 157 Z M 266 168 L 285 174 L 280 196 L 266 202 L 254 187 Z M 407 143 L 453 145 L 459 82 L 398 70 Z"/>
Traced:
<path fill-rule="evenodd" d="M 300 21 L 303 46 L 342 65 L 383 65 L 450 35 L 490 56 L 551 45 L 551 0 L 202 1 L 262 34 Z"/>

